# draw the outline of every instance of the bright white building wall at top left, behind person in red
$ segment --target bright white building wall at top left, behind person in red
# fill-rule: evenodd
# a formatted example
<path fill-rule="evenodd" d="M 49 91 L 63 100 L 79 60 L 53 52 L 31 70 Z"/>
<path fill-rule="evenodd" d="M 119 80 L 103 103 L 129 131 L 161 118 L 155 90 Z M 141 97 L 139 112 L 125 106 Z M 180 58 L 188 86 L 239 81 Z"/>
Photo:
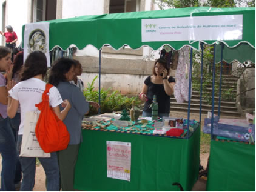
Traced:
<path fill-rule="evenodd" d="M 0 26 L 2 26 L 2 4 L 4 0 L 0 0 L 1 7 L 0 7 Z M 28 22 L 28 6 L 29 0 L 6 0 L 6 14 L 5 14 L 5 25 L 11 25 L 13 30 L 18 36 L 17 45 L 21 42 L 21 35 L 22 35 L 22 25 Z M 5 28 L 1 28 L 1 31 L 6 31 Z M 2 38 L 1 36 L 1 43 Z M 4 38 L 5 42 L 5 38 Z"/>

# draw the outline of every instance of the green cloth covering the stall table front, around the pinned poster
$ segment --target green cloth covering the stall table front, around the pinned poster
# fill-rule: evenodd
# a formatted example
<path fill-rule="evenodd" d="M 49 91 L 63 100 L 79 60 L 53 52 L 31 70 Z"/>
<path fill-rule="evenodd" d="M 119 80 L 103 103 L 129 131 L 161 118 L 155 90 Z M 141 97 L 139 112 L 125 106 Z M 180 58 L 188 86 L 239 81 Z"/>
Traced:
<path fill-rule="evenodd" d="M 106 141 L 132 143 L 131 180 L 107 178 Z M 190 139 L 83 130 L 74 188 L 86 191 L 191 190 L 198 177 L 200 128 Z"/>

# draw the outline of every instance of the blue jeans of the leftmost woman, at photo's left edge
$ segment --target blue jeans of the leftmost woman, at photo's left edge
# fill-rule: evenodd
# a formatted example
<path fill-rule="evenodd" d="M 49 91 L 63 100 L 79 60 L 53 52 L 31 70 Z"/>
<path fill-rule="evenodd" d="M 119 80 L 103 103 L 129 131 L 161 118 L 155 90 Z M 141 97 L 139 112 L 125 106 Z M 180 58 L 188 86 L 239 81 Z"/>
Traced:
<path fill-rule="evenodd" d="M 9 118 L 0 117 L 0 153 L 2 154 L 1 191 L 15 191 L 17 150 Z"/>

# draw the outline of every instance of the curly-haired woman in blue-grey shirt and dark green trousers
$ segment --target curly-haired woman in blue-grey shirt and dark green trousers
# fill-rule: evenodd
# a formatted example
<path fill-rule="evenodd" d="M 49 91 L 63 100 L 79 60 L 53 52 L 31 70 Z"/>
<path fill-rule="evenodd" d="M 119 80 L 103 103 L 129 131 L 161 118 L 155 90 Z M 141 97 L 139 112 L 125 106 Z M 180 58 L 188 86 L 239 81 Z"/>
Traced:
<path fill-rule="evenodd" d="M 89 113 L 89 104 L 91 104 L 91 102 L 86 101 L 83 93 L 76 85 L 69 83 L 75 76 L 75 65 L 76 63 L 72 59 L 58 59 L 53 64 L 49 76 L 49 83 L 55 85 L 61 93 L 61 97 L 69 99 L 72 105 L 69 114 L 63 121 L 69 131 L 70 142 L 66 150 L 58 152 L 62 191 L 74 190 L 75 164 L 82 141 L 81 123 L 84 114 Z"/>

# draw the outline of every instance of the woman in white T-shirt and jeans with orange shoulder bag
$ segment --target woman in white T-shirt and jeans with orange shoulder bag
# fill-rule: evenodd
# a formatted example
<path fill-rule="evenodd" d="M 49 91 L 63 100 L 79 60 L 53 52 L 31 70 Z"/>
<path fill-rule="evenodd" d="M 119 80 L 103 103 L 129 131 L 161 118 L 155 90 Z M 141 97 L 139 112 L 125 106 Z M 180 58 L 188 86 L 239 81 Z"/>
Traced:
<path fill-rule="evenodd" d="M 42 101 L 42 93 L 45 90 L 45 82 L 43 81 L 47 72 L 47 59 L 41 51 L 34 51 L 27 56 L 24 64 L 24 70 L 21 74 L 21 82 L 16 84 L 10 91 L 8 98 L 7 113 L 10 118 L 13 118 L 18 110 L 19 104 L 21 107 L 21 124 L 19 125 L 18 133 L 18 151 L 21 151 L 22 136 L 26 113 L 40 111 L 35 106 Z M 70 103 L 67 100 L 62 100 L 59 91 L 56 87 L 49 90 L 49 104 L 53 108 L 54 113 L 63 121 L 70 110 Z M 59 105 L 62 105 L 61 111 Z M 44 167 L 47 180 L 47 191 L 59 190 L 59 165 L 56 153 L 50 153 L 49 158 L 38 158 Z M 21 191 L 32 191 L 35 184 L 36 158 L 35 157 L 19 157 L 21 162 L 23 179 Z"/>

